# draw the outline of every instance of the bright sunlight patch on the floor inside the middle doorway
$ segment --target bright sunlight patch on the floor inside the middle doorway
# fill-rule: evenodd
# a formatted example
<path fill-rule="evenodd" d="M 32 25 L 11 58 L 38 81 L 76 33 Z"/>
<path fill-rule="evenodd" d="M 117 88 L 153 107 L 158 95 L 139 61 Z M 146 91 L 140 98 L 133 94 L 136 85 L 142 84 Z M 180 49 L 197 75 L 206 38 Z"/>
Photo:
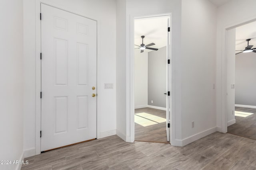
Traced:
<path fill-rule="evenodd" d="M 136 113 L 134 115 L 134 122 L 146 127 L 150 125 L 155 125 L 157 123 L 166 122 L 166 119 L 143 112 L 143 113 Z"/>

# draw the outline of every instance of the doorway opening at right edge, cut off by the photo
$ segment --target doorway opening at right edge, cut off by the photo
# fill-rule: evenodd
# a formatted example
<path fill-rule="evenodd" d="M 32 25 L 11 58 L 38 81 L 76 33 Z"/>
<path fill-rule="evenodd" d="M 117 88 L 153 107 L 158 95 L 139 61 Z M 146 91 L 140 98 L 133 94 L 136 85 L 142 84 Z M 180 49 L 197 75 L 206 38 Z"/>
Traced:
<path fill-rule="evenodd" d="M 254 140 L 256 140 L 255 28 L 256 21 L 230 29 L 227 33 L 227 43 L 234 41 L 235 36 L 235 47 L 234 43 L 231 44 L 236 51 L 233 58 L 232 55 L 227 56 L 227 91 L 228 94 L 230 93 L 227 101 L 227 132 Z"/>

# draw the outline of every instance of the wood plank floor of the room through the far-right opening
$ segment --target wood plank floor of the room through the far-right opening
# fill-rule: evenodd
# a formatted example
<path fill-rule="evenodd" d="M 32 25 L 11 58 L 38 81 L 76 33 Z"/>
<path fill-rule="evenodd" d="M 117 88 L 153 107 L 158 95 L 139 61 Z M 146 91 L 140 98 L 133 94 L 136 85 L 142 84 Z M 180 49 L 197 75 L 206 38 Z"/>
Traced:
<path fill-rule="evenodd" d="M 246 107 L 235 107 L 236 111 L 254 113 L 247 117 L 236 117 L 236 123 L 228 126 L 228 133 L 256 140 L 256 109 Z"/>

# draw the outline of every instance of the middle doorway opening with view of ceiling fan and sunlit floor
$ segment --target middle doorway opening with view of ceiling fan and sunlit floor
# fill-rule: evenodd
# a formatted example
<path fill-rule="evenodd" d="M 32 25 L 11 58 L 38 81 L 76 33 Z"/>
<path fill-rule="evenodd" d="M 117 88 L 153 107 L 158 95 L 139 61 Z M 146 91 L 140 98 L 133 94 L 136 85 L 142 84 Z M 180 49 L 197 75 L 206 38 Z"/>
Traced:
<path fill-rule="evenodd" d="M 134 140 L 170 143 L 170 15 L 134 19 Z"/>

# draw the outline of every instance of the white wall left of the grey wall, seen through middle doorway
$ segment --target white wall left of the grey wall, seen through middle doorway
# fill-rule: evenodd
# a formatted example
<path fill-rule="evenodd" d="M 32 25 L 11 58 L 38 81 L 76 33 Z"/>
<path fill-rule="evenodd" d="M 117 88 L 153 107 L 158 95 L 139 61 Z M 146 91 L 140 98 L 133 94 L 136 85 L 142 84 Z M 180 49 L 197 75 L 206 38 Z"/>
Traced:
<path fill-rule="evenodd" d="M 143 108 L 148 105 L 148 52 L 134 50 L 134 107 Z"/>

